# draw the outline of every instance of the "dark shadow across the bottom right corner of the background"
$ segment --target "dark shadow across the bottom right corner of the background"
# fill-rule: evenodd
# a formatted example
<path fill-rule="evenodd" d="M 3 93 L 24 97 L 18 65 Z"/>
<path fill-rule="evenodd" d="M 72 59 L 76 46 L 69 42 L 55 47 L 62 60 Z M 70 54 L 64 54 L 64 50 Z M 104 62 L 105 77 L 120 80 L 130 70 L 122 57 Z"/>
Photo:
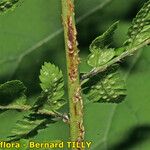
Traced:
<path fill-rule="evenodd" d="M 127 137 L 120 143 L 111 146 L 109 150 L 129 150 L 148 139 L 150 139 L 150 125 L 142 125 L 129 131 Z"/>

